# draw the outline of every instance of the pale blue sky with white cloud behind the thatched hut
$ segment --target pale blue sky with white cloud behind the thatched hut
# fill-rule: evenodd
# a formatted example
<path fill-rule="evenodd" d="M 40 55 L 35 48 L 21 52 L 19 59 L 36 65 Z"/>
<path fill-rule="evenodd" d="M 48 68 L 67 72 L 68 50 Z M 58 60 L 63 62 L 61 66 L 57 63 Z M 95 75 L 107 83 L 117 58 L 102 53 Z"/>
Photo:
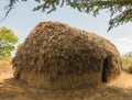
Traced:
<path fill-rule="evenodd" d="M 3 18 L 6 10 L 3 8 L 9 0 L 0 0 L 0 19 Z M 57 9 L 51 14 L 41 11 L 33 12 L 33 7 L 37 5 L 34 0 L 28 2 L 18 2 L 8 18 L 0 25 L 8 26 L 23 42 L 33 27 L 42 21 L 57 21 L 70 26 L 78 27 L 88 32 L 101 35 L 111 41 L 121 54 L 132 52 L 132 23 L 128 23 L 107 33 L 109 13 L 102 12 L 94 18 L 90 14 L 80 13 L 68 7 Z"/>

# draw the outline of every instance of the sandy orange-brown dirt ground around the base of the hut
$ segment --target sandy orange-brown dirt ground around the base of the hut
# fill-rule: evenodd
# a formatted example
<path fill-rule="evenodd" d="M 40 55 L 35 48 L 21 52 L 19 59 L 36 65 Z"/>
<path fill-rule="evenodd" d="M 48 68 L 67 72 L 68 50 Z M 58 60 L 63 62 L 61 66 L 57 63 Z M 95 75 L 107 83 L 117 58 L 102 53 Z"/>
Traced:
<path fill-rule="evenodd" d="M 132 75 L 124 71 L 109 84 L 73 90 L 29 88 L 12 77 L 12 67 L 0 63 L 0 100 L 132 100 Z"/>

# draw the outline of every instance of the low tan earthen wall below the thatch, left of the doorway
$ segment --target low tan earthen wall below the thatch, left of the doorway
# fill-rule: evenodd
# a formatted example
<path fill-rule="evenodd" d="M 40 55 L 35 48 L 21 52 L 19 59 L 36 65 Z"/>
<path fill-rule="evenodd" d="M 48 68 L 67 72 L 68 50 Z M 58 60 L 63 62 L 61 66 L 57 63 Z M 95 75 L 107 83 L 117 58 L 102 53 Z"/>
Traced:
<path fill-rule="evenodd" d="M 52 80 L 48 75 L 21 70 L 20 80 L 25 80 L 29 86 L 45 89 L 74 89 L 79 87 L 97 86 L 101 81 L 101 73 L 87 73 L 82 75 L 62 75 L 58 79 Z"/>

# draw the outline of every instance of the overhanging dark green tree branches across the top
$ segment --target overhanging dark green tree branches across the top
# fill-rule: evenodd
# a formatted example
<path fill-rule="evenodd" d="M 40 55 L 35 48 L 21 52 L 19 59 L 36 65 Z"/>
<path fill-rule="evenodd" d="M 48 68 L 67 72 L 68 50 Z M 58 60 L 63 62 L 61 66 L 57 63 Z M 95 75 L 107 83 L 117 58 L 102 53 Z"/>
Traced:
<path fill-rule="evenodd" d="M 16 1 L 28 0 L 10 0 L 7 7 L 8 13 L 12 10 Z M 42 10 L 42 12 L 51 13 L 58 7 L 69 5 L 77 9 L 79 12 L 92 13 L 98 15 L 101 10 L 110 12 L 109 30 L 117 27 L 120 24 L 132 22 L 132 0 L 34 0 L 38 5 L 33 11 Z"/>

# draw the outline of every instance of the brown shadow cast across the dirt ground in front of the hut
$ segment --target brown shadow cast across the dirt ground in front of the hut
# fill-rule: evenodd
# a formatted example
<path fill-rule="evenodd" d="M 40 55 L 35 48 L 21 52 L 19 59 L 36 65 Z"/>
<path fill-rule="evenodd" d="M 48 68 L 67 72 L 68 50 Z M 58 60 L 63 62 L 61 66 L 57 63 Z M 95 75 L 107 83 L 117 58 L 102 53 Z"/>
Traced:
<path fill-rule="evenodd" d="M 132 100 L 132 88 L 101 85 L 72 90 L 29 88 L 12 78 L 0 82 L 0 100 Z"/>

